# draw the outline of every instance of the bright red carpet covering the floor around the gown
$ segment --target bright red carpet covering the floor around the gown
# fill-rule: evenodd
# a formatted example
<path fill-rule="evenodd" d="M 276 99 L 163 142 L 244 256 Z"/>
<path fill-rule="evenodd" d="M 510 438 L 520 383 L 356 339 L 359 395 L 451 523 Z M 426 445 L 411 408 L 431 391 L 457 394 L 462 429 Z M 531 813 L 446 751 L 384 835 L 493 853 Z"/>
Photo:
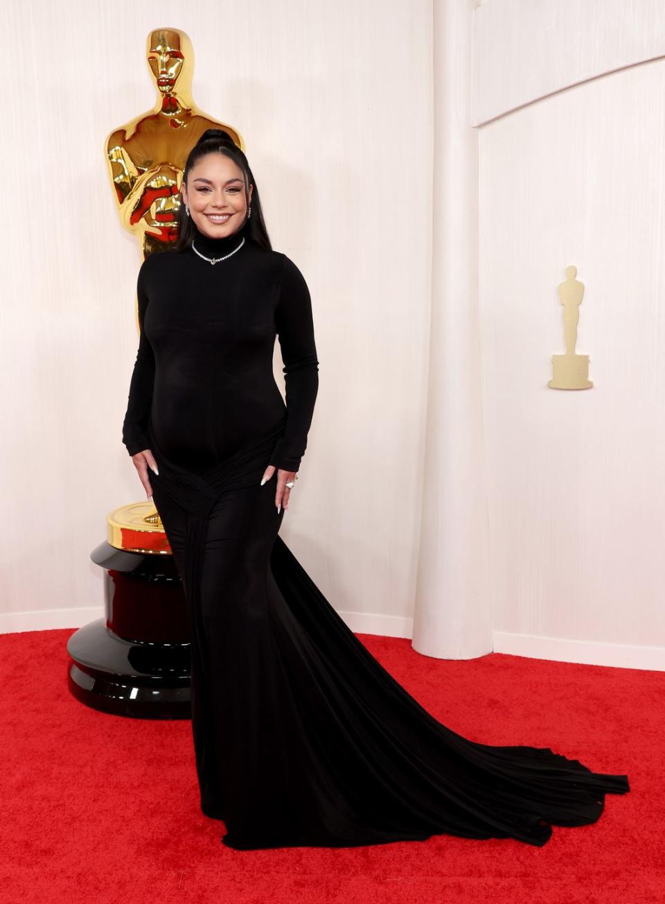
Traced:
<path fill-rule="evenodd" d="M 239 852 L 202 815 L 188 721 L 90 710 L 67 689 L 73 629 L 0 635 L 3 904 L 665 902 L 665 673 L 490 654 L 449 662 L 361 640 L 437 719 L 487 744 L 626 773 L 599 822 L 544 847 L 436 835 Z"/>

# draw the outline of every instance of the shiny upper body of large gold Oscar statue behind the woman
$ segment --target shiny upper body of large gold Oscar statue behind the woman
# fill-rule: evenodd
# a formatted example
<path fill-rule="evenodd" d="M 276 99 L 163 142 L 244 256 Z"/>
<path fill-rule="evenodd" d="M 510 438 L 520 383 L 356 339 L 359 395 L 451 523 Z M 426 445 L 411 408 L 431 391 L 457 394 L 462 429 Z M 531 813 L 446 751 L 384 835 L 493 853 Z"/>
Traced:
<path fill-rule="evenodd" d="M 177 237 L 176 213 L 187 155 L 207 128 L 221 128 L 245 150 L 239 132 L 192 100 L 194 53 L 178 28 L 155 28 L 145 42 L 155 107 L 107 138 L 108 169 L 120 220 L 140 241 L 144 259 Z"/>

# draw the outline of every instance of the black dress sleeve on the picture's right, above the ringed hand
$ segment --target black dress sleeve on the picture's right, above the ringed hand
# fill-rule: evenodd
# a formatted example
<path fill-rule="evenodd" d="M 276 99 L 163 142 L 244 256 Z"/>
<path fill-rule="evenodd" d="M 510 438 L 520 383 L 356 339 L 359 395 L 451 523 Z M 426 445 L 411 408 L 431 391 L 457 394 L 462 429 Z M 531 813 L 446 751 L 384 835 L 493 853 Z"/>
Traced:
<path fill-rule="evenodd" d="M 284 363 L 286 427 L 269 464 L 286 471 L 297 471 L 307 447 L 307 433 L 314 414 L 319 362 L 309 289 L 303 274 L 286 255 L 275 320 Z"/>

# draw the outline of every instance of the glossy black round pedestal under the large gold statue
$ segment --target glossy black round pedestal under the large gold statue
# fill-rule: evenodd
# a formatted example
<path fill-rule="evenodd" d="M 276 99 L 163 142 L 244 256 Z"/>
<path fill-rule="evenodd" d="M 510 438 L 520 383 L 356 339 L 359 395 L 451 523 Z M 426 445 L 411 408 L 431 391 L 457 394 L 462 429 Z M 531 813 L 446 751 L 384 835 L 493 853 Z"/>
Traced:
<path fill-rule="evenodd" d="M 106 617 L 70 636 L 70 691 L 96 710 L 189 719 L 189 630 L 173 557 L 104 541 L 90 558 L 105 569 Z"/>

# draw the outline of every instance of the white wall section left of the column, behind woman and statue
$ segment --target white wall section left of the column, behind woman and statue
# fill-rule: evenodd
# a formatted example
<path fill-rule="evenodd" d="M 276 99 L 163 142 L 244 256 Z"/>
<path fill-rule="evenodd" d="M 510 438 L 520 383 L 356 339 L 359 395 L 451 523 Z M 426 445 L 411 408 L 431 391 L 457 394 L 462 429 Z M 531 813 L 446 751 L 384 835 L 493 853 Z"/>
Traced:
<path fill-rule="evenodd" d="M 408 633 L 431 17 L 430 0 L 73 0 L 66 15 L 45 0 L 5 5 L 0 630 L 98 617 L 89 553 L 107 513 L 144 498 L 121 445 L 140 258 L 117 221 L 104 142 L 155 102 L 145 38 L 168 25 L 192 38 L 194 99 L 239 128 L 273 245 L 313 297 L 321 386 L 281 535 L 355 626 Z"/>

